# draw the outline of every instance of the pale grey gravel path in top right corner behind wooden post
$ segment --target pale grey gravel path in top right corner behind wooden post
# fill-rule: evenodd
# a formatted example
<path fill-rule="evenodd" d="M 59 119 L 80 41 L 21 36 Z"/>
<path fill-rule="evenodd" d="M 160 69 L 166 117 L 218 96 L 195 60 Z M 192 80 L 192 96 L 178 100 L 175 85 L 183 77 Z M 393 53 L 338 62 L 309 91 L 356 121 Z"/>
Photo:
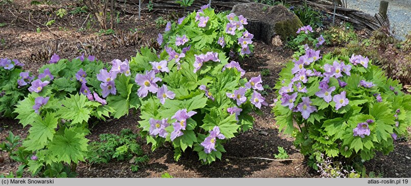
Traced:
<path fill-rule="evenodd" d="M 411 31 L 411 0 L 384 0 L 388 1 L 388 17 L 391 30 L 398 39 Z M 360 10 L 371 15 L 378 13 L 379 0 L 347 0 L 347 8 Z"/>

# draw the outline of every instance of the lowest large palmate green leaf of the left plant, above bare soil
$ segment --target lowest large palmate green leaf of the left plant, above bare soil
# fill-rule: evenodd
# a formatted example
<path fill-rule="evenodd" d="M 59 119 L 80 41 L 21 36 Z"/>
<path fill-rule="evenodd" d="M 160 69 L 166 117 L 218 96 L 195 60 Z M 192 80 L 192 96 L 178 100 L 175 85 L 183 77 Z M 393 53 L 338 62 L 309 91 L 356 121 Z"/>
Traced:
<path fill-rule="evenodd" d="M 75 128 L 66 128 L 64 135 L 55 135 L 53 142 L 49 145 L 49 150 L 57 156 L 59 161 L 67 164 L 84 161 L 87 156 L 87 142 L 85 133 L 78 132 Z"/>

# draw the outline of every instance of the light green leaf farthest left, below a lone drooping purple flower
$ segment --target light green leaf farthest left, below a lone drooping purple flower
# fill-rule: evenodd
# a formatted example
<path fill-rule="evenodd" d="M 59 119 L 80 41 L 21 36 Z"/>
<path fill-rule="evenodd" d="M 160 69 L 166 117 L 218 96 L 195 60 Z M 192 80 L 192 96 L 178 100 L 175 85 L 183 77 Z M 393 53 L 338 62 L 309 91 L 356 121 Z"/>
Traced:
<path fill-rule="evenodd" d="M 34 118 L 38 115 L 33 109 L 34 99 L 36 97 L 37 94 L 28 95 L 27 98 L 18 102 L 17 108 L 14 110 L 14 112 L 18 114 L 16 119 L 18 119 L 18 122 L 21 123 L 23 127 L 33 123 Z"/>

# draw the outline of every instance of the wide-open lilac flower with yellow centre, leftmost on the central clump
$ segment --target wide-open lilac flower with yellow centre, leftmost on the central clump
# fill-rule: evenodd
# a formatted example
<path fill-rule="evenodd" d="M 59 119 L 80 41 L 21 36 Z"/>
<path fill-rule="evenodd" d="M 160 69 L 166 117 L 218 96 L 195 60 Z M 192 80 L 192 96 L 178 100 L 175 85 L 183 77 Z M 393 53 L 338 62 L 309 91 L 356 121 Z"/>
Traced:
<path fill-rule="evenodd" d="M 140 85 L 140 88 L 137 90 L 137 95 L 140 98 L 145 98 L 148 91 L 156 93 L 159 90 L 156 82 L 161 81 L 161 79 L 156 78 L 156 73 L 154 71 L 147 71 L 145 75 L 137 74 L 135 81 Z"/>

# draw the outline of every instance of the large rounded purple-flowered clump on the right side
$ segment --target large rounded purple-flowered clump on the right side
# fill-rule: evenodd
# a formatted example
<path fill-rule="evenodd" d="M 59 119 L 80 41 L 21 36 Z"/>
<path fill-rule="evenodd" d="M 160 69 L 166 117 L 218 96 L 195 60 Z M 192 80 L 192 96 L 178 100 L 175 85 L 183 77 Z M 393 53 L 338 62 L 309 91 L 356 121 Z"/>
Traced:
<path fill-rule="evenodd" d="M 411 124 L 411 96 L 367 57 L 319 52 L 306 48 L 282 69 L 273 108 L 280 130 L 293 133 L 305 155 L 388 154 Z"/>

